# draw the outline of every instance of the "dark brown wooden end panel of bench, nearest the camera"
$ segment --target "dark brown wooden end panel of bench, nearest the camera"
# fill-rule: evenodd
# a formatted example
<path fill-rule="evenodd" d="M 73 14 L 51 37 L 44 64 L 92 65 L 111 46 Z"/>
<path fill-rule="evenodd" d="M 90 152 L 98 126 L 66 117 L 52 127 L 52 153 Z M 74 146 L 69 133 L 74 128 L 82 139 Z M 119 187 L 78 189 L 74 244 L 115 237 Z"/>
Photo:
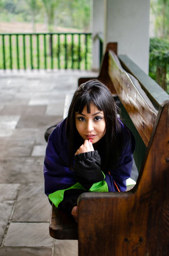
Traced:
<path fill-rule="evenodd" d="M 169 255 L 168 136 L 169 102 L 166 102 L 154 125 L 146 159 L 134 189 L 123 193 L 85 193 L 80 196 L 80 256 Z"/>

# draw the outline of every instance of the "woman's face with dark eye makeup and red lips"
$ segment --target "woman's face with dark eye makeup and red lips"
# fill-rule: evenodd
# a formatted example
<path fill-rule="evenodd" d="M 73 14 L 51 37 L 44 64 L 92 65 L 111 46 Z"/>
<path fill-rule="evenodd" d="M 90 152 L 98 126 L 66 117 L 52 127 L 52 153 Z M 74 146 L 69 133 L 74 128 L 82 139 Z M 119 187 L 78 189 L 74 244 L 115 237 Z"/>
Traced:
<path fill-rule="evenodd" d="M 87 106 L 84 106 L 81 114 L 75 113 L 75 124 L 80 136 L 84 140 L 92 139 L 93 144 L 98 142 L 106 131 L 104 113 L 93 104 L 90 105 L 90 114 L 87 112 Z"/>

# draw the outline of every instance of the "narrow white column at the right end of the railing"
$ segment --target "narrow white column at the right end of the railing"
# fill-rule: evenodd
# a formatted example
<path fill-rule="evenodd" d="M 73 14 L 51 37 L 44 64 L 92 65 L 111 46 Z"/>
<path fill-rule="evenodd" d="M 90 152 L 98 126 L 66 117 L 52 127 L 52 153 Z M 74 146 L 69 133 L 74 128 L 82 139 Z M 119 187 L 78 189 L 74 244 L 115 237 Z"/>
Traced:
<path fill-rule="evenodd" d="M 96 38 L 97 34 L 101 33 L 104 37 L 104 1 L 93 0 L 93 28 L 92 28 L 92 40 L 93 40 L 93 56 L 92 56 L 92 69 L 93 71 L 99 70 L 99 40 Z"/>

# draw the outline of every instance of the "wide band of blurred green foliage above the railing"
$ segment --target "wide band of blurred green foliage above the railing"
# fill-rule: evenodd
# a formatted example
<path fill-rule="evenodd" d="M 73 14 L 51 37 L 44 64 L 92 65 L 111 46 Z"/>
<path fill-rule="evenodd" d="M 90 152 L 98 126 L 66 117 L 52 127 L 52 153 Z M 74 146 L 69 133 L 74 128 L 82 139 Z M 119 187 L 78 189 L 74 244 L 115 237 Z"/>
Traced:
<path fill-rule="evenodd" d="M 0 21 L 44 23 L 90 31 L 92 0 L 0 0 Z M 26 32 L 26 31 L 25 31 Z M 38 31 L 37 31 L 38 32 Z"/>

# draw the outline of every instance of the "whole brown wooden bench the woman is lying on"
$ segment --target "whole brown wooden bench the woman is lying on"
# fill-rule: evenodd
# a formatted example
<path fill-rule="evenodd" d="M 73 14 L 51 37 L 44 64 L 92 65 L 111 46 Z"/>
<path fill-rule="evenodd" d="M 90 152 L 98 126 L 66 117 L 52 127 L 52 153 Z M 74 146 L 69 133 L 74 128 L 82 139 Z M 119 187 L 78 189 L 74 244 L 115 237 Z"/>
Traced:
<path fill-rule="evenodd" d="M 123 121 L 136 138 L 137 183 L 127 192 L 81 194 L 78 225 L 52 205 L 50 235 L 78 239 L 79 256 L 169 255 L 169 95 L 116 54 L 117 43 L 109 43 L 98 79 L 119 96 Z"/>

